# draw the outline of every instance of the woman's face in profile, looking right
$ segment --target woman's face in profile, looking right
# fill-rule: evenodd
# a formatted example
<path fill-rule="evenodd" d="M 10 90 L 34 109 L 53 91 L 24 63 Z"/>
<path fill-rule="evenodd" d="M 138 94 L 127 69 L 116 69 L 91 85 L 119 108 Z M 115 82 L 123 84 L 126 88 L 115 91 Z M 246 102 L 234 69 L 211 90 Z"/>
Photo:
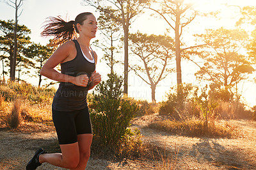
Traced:
<path fill-rule="evenodd" d="M 88 15 L 87 19 L 83 21 L 83 25 L 77 24 L 79 35 L 88 36 L 94 38 L 97 32 L 97 20 L 94 15 Z"/>

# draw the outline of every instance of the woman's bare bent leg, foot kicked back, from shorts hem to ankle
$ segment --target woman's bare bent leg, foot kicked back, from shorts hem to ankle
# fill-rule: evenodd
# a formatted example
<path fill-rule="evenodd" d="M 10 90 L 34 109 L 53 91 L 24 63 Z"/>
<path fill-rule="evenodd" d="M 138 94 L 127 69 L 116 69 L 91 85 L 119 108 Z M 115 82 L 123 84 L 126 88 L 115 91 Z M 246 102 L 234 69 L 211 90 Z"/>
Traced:
<path fill-rule="evenodd" d="M 44 153 L 39 156 L 42 164 L 48 162 L 54 166 L 74 169 L 79 164 L 79 144 L 60 144 L 61 153 Z"/>

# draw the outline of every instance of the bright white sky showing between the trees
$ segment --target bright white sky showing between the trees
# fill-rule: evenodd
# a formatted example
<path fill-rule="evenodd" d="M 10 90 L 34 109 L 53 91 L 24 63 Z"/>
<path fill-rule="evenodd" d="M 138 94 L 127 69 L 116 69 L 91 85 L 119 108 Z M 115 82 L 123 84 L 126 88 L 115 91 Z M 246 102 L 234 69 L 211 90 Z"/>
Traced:
<path fill-rule="evenodd" d="M 14 0 L 13 0 L 14 1 Z M 196 8 L 201 11 L 209 10 L 219 10 L 224 3 L 228 5 L 239 5 L 239 6 L 256 6 L 256 1 L 252 0 L 191 0 L 195 3 Z M 99 13 L 95 12 L 95 9 L 91 6 L 81 5 L 81 0 L 25 0 L 24 4 L 20 8 L 21 12 L 19 17 L 19 24 L 24 24 L 29 29 L 31 29 L 31 41 L 35 43 L 41 43 L 45 45 L 49 40 L 47 38 L 42 38 L 40 33 L 42 32 L 42 26 L 44 25 L 45 19 L 47 17 L 56 17 L 60 15 L 64 19 L 74 20 L 76 15 L 82 12 L 92 12 L 95 17 L 99 17 Z M 184 30 L 184 36 L 182 40 L 186 42 L 186 45 L 193 45 L 193 34 L 203 33 L 205 28 L 218 28 L 234 27 L 235 21 L 238 17 L 237 8 L 230 6 L 228 10 L 224 10 L 223 18 L 220 20 L 216 19 L 201 19 L 195 20 L 186 27 Z M 0 0 L 0 20 L 15 19 L 15 10 L 8 4 L 4 3 L 4 0 Z M 140 30 L 143 33 L 163 35 L 166 32 L 168 25 L 163 19 L 150 17 L 148 11 L 144 15 L 141 15 L 136 19 L 131 25 L 130 31 L 135 33 Z M 97 32 L 96 37 L 99 37 L 100 31 Z M 173 36 L 172 34 L 170 36 Z M 102 52 L 99 49 L 96 50 L 100 58 Z M 174 65 L 175 63 L 173 63 Z M 97 72 L 102 74 L 103 80 L 106 79 L 106 64 L 102 61 L 97 65 Z M 195 70 L 197 70 L 193 63 L 187 61 L 182 61 L 182 82 L 192 83 L 198 85 L 199 82 L 195 80 Z M 121 74 L 123 68 L 117 69 Z M 1 72 L 1 68 L 0 68 Z M 37 84 L 35 79 L 26 79 L 26 81 L 32 84 Z M 168 79 L 159 82 L 159 86 L 156 89 L 156 100 L 160 102 L 164 100 L 166 91 L 170 89 L 171 86 L 176 84 L 176 74 L 172 73 Z M 253 85 L 253 86 L 252 86 Z M 248 105 L 256 105 L 256 88 L 255 84 L 251 82 L 244 82 L 243 93 L 244 98 Z M 146 88 L 145 88 L 146 87 Z M 139 77 L 129 74 L 129 95 L 135 98 L 146 99 L 151 101 L 151 89 L 150 86 L 145 84 Z"/>

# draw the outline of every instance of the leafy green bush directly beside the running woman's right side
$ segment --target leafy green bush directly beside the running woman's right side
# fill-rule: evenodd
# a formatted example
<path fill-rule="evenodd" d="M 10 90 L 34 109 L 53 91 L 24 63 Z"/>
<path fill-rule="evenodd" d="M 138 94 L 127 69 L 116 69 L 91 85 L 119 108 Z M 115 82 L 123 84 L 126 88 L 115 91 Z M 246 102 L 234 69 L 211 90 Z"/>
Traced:
<path fill-rule="evenodd" d="M 127 134 L 138 106 L 132 100 L 122 98 L 122 77 L 116 73 L 108 74 L 108 77 L 92 93 L 90 115 L 93 134 L 99 136 L 104 145 L 115 146 Z"/>

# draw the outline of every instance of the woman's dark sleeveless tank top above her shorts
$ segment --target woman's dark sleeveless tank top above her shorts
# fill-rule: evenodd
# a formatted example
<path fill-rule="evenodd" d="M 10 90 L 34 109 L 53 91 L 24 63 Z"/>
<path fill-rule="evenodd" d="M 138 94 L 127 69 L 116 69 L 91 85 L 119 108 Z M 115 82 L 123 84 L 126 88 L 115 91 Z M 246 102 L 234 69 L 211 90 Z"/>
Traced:
<path fill-rule="evenodd" d="M 76 58 L 65 63 L 61 63 L 61 73 L 78 76 L 81 74 L 87 74 L 91 77 L 92 72 L 95 70 L 95 60 L 93 63 L 84 58 L 82 50 L 77 40 L 73 40 L 76 45 Z M 92 50 L 92 56 L 93 50 Z M 82 86 L 76 86 L 71 82 L 60 82 L 60 86 L 56 91 L 53 98 L 52 109 L 56 111 L 76 111 L 87 107 L 88 88 Z"/>

